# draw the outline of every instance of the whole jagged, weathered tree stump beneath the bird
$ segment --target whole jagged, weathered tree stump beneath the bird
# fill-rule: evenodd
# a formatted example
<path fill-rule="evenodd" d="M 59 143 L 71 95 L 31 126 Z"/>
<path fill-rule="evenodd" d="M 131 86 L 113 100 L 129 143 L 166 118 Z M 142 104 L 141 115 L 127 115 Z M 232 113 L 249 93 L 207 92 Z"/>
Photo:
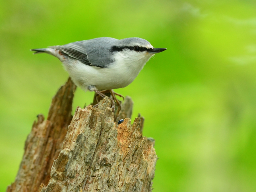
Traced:
<path fill-rule="evenodd" d="M 108 97 L 97 108 L 77 107 L 72 118 L 75 88 L 69 79 L 53 98 L 47 120 L 38 115 L 7 192 L 151 191 L 154 140 L 142 137 L 141 118 L 131 125 L 131 98 L 115 114 L 124 119 L 119 125 Z"/>

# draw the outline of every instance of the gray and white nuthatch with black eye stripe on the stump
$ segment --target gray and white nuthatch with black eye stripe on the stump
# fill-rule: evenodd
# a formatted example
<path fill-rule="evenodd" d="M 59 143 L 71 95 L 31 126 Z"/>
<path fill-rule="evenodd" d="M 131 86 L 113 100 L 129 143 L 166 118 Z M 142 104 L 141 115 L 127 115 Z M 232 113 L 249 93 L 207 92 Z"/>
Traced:
<path fill-rule="evenodd" d="M 33 54 L 48 53 L 57 57 L 73 82 L 86 91 L 105 97 L 102 90 L 123 88 L 131 84 L 146 62 L 166 48 L 154 48 L 147 40 L 132 37 L 100 37 L 65 45 L 30 49 Z M 120 96 L 120 94 L 117 94 Z M 112 109 L 115 103 L 112 100 Z"/>

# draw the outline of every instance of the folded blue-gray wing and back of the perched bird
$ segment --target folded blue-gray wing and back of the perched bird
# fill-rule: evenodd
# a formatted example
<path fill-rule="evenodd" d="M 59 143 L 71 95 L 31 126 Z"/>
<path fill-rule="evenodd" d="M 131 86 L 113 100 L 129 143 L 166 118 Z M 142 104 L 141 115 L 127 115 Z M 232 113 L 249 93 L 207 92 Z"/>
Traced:
<path fill-rule="evenodd" d="M 116 41 L 118 40 L 103 37 L 50 48 L 60 50 L 64 55 L 80 60 L 85 65 L 107 68 L 113 62 L 109 50 Z"/>

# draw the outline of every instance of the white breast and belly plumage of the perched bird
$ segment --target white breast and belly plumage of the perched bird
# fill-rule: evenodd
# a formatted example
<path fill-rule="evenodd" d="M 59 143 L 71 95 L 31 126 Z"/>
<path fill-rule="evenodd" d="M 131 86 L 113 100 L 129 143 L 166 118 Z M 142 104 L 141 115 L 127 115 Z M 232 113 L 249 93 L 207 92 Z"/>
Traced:
<path fill-rule="evenodd" d="M 151 56 L 146 51 L 127 50 L 115 52 L 115 61 L 108 68 L 92 67 L 75 59 L 67 59 L 63 65 L 75 84 L 84 91 L 91 85 L 98 90 L 117 89 L 133 82 Z"/>

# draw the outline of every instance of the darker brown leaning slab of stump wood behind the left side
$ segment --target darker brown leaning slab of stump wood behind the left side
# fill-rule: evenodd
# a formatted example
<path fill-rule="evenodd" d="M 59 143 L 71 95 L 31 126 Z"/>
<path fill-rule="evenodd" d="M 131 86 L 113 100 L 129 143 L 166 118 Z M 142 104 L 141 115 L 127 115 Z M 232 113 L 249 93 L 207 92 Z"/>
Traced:
<path fill-rule="evenodd" d="M 47 120 L 38 115 L 24 147 L 24 155 L 14 183 L 7 192 L 38 191 L 41 183 L 47 184 L 53 161 L 59 156 L 72 116 L 75 84 L 69 80 L 54 96 Z"/>

